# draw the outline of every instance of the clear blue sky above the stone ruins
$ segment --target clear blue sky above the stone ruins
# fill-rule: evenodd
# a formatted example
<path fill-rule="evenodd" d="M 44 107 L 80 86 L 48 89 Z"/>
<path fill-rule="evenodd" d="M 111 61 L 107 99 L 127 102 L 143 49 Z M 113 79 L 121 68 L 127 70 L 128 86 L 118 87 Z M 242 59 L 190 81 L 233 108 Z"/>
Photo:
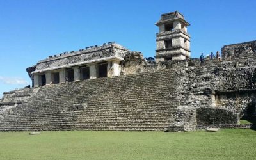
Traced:
<path fill-rule="evenodd" d="M 0 97 L 31 81 L 26 68 L 52 54 L 117 42 L 154 56 L 154 23 L 179 10 L 191 24 L 191 56 L 256 40 L 254 0 L 0 0 Z"/>

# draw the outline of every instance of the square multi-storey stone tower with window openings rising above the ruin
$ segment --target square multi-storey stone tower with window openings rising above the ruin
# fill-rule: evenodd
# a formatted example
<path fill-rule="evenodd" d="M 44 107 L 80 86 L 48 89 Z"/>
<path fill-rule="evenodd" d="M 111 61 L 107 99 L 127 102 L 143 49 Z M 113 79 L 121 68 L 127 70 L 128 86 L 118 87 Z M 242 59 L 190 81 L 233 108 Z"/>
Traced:
<path fill-rule="evenodd" d="M 190 58 L 190 36 L 184 16 L 175 11 L 161 15 L 156 23 L 156 61 L 184 60 Z"/>

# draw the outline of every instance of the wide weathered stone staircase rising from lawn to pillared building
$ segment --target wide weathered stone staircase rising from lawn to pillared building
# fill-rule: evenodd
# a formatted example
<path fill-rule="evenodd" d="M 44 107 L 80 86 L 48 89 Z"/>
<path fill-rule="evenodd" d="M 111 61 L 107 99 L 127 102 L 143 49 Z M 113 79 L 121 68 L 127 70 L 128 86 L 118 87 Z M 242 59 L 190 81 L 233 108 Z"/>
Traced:
<path fill-rule="evenodd" d="M 0 131 L 164 131 L 179 106 L 174 70 L 42 86 Z M 74 104 L 86 104 L 70 111 Z"/>

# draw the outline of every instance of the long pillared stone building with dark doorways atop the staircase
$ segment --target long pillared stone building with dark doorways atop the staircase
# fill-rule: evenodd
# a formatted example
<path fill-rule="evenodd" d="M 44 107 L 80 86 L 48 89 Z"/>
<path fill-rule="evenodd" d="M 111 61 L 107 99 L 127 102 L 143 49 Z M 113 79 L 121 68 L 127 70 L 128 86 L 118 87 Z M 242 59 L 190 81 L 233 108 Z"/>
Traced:
<path fill-rule="evenodd" d="M 129 52 L 121 45 L 109 42 L 99 47 L 96 45 L 76 52 L 49 56 L 39 61 L 35 67 L 29 67 L 27 71 L 35 87 L 119 76 L 120 61 L 124 60 L 124 56 Z"/>

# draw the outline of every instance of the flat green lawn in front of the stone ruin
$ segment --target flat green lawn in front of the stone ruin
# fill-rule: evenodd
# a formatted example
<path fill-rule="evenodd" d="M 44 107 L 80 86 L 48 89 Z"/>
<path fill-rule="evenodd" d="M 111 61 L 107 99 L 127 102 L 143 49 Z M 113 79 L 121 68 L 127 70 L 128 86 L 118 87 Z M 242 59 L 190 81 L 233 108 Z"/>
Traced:
<path fill-rule="evenodd" d="M 255 159 L 256 131 L 0 132 L 0 159 Z"/>

